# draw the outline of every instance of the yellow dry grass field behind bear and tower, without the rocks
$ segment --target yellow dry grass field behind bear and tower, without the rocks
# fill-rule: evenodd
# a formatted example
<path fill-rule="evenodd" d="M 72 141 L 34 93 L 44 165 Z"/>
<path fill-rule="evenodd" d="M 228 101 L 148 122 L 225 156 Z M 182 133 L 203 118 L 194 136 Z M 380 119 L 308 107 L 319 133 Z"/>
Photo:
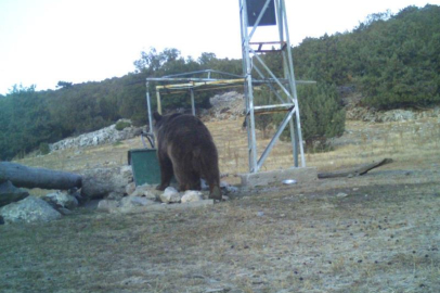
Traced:
<path fill-rule="evenodd" d="M 207 123 L 219 150 L 220 170 L 224 174 L 248 171 L 247 135 L 241 128 L 241 120 Z M 269 139 L 261 139 L 257 131 L 258 151 L 261 154 Z M 364 123 L 347 122 L 346 133 L 334 141 L 335 150 L 326 153 L 308 153 L 308 166 L 319 170 L 332 170 L 362 163 L 370 163 L 384 157 L 391 157 L 394 164 L 386 168 L 419 166 L 426 157 L 440 162 L 440 120 L 425 118 L 403 123 Z M 79 171 L 81 169 L 119 166 L 127 164 L 127 152 L 130 149 L 143 148 L 139 138 L 88 148 L 53 152 L 43 157 L 29 156 L 18 161 L 28 166 L 40 166 L 52 169 Z M 269 155 L 262 170 L 292 167 L 290 143 L 279 141 Z M 426 164 L 425 164 L 426 165 Z M 429 164 L 424 168 L 429 167 Z"/>

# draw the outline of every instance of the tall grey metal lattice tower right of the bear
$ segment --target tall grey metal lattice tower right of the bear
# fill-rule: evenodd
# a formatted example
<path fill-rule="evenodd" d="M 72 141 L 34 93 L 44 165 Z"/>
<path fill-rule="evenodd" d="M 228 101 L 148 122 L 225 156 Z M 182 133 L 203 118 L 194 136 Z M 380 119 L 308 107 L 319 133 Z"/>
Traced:
<path fill-rule="evenodd" d="M 246 125 L 248 137 L 249 173 L 258 173 L 283 130 L 289 126 L 295 167 L 306 167 L 302 146 L 301 125 L 295 80 L 294 63 L 288 35 L 287 16 L 284 0 L 238 0 L 242 31 L 243 75 L 246 103 Z M 261 26 L 277 26 L 277 40 L 253 41 Z M 276 33 L 275 33 L 276 35 Z M 268 49 L 268 47 L 270 47 Z M 281 53 L 284 77 L 276 77 L 264 63 L 261 54 Z M 257 80 L 274 93 L 279 103 L 256 105 L 254 85 Z M 305 81 L 300 81 L 305 82 Z M 307 81 L 306 81 L 307 82 Z M 308 82 L 309 84 L 309 82 Z M 258 82 L 258 85 L 261 85 Z M 256 115 L 284 112 L 285 117 L 277 127 L 271 141 L 258 158 L 256 138 Z"/>

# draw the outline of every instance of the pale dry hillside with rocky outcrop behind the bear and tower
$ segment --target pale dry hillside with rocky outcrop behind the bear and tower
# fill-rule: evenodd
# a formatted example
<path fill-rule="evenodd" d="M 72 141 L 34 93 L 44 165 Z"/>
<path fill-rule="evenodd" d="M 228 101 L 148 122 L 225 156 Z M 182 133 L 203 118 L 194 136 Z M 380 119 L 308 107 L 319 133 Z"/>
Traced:
<path fill-rule="evenodd" d="M 219 150 L 221 173 L 232 175 L 246 173 L 247 135 L 242 128 L 244 117 L 238 115 L 242 113 L 240 109 L 243 109 L 243 95 L 229 92 L 216 95 L 213 99 L 215 106 L 202 116 L 202 119 L 212 132 Z M 440 107 L 429 111 L 377 112 L 352 106 L 348 109 L 347 116 L 344 135 L 332 140 L 333 151 L 308 153 L 308 166 L 318 167 L 320 170 L 332 170 L 392 156 L 396 163 L 387 168 L 431 168 L 432 166 L 426 166 L 428 162 L 425 162 L 425 158 L 432 157 L 432 162 L 436 162 L 435 157 L 439 156 Z M 48 155 L 34 153 L 17 162 L 29 166 L 81 171 L 89 168 L 125 165 L 127 152 L 130 149 L 144 148 L 139 136 L 127 140 L 117 139 L 135 130 L 127 128 L 127 131 L 115 133 L 113 128 L 109 129 L 113 131 L 111 133 L 116 136 L 116 140 L 112 139 L 107 143 L 95 146 L 91 143 L 86 148 L 81 148 L 80 140 L 77 140 L 74 148 L 53 151 Z M 271 131 L 274 130 L 271 129 Z M 94 136 L 100 136 L 100 132 L 95 133 Z M 257 130 L 257 137 L 258 150 L 261 153 L 270 139 L 264 139 L 259 130 Z M 93 141 L 92 137 L 88 140 Z M 292 165 L 290 143 L 279 141 L 263 170 L 287 168 Z"/>

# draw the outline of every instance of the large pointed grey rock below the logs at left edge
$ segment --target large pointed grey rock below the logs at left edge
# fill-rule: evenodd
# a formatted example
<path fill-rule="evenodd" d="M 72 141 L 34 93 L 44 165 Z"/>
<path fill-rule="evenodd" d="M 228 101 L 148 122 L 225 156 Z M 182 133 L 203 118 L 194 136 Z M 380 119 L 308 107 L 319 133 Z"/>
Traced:
<path fill-rule="evenodd" d="M 51 221 L 62 217 L 49 203 L 33 195 L 1 207 L 0 216 L 5 224 Z"/>

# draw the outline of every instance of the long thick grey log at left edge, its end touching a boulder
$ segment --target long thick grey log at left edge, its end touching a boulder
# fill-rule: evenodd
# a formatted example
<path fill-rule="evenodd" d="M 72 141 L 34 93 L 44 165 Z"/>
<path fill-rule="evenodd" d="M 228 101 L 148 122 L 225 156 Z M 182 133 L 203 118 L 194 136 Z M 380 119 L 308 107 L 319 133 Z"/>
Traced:
<path fill-rule="evenodd" d="M 16 163 L 0 162 L 0 183 L 11 181 L 16 187 L 68 190 L 81 187 L 81 176 L 67 171 L 33 168 Z"/>

